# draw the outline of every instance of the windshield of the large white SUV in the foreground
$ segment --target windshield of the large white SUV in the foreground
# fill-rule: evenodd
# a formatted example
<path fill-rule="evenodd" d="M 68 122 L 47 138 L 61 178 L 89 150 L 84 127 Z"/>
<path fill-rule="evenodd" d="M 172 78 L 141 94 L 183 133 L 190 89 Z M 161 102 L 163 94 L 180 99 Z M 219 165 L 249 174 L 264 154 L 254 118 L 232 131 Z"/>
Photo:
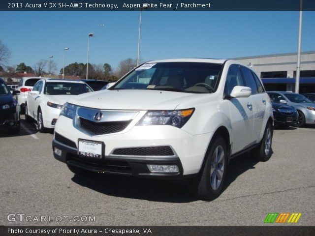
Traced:
<path fill-rule="evenodd" d="M 218 88 L 222 68 L 222 64 L 204 62 L 145 63 L 110 89 L 213 93 Z"/>

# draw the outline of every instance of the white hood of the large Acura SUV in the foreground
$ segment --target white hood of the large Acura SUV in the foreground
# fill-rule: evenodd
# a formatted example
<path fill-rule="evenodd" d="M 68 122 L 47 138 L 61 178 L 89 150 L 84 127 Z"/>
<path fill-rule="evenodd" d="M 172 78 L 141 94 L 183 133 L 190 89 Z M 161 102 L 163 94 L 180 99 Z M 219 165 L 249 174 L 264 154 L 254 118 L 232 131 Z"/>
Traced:
<path fill-rule="evenodd" d="M 161 90 L 100 90 L 84 93 L 68 102 L 84 107 L 110 110 L 174 110 L 194 99 L 194 93 Z"/>

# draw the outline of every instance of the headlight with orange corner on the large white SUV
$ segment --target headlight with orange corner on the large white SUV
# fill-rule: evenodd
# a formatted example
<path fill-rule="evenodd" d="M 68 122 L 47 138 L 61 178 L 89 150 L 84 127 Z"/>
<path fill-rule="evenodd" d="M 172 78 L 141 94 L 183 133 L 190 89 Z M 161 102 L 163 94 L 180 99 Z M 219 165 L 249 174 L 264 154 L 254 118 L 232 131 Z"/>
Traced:
<path fill-rule="evenodd" d="M 195 109 L 173 111 L 148 111 L 137 125 L 173 125 L 181 128 L 189 120 Z"/>

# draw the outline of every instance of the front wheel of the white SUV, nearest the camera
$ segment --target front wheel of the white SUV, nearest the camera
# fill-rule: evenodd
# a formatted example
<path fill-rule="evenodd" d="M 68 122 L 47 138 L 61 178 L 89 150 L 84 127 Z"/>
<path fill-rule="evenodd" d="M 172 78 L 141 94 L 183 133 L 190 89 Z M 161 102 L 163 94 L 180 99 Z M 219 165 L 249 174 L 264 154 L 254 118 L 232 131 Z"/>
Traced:
<path fill-rule="evenodd" d="M 197 197 L 211 201 L 220 196 L 227 170 L 226 142 L 221 136 L 214 137 L 210 144 L 201 176 L 197 179 Z M 219 179 L 221 178 L 221 180 Z"/>

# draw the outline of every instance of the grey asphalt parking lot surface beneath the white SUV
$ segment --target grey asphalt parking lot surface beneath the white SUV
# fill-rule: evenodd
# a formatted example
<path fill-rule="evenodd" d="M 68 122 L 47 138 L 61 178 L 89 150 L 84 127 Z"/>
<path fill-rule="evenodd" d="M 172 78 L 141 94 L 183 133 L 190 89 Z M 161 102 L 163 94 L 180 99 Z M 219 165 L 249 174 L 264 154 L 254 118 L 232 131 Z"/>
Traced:
<path fill-rule="evenodd" d="M 53 157 L 52 139 L 24 117 L 19 135 L 0 135 L 0 225 L 264 225 L 269 212 L 301 212 L 296 225 L 315 225 L 315 127 L 276 129 L 268 162 L 250 153 L 233 159 L 225 190 L 212 202 L 176 182 L 74 176 Z M 31 221 L 10 222 L 9 214 Z"/>

